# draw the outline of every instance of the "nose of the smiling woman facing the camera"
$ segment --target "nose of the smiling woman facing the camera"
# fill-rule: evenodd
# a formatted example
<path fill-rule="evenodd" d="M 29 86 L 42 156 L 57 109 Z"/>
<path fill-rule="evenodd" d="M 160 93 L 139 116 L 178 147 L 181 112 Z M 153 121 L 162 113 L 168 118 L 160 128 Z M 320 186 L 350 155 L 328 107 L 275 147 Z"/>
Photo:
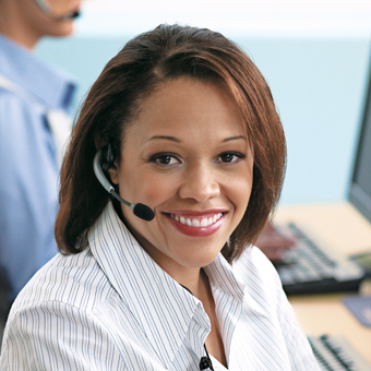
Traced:
<path fill-rule="evenodd" d="M 216 170 L 212 165 L 196 164 L 190 166 L 183 175 L 179 188 L 181 199 L 193 199 L 204 202 L 220 194 Z"/>

